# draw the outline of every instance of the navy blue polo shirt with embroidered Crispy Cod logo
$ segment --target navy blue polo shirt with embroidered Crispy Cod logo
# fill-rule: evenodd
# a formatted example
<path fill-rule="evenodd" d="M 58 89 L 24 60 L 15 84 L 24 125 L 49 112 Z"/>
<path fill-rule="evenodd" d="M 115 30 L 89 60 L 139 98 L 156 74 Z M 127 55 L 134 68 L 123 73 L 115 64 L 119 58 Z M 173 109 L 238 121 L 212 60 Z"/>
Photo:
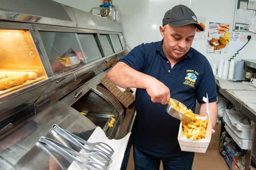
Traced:
<path fill-rule="evenodd" d="M 162 41 L 143 43 L 119 62 L 157 78 L 170 89 L 171 98 L 193 111 L 196 100 L 204 103 L 202 98 L 206 93 L 209 102 L 216 102 L 216 83 L 210 63 L 193 48 L 173 68 L 164 55 Z M 181 151 L 178 144 L 180 120 L 166 112 L 166 105 L 153 103 L 145 89 L 136 90 L 136 112 L 132 131 L 135 147 L 161 157 L 189 154 Z"/>

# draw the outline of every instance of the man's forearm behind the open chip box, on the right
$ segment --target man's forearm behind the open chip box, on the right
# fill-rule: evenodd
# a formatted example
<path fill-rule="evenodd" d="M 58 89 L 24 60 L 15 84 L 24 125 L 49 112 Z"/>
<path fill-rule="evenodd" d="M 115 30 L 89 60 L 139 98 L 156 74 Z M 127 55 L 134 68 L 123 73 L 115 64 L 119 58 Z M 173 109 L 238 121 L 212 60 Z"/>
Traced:
<path fill-rule="evenodd" d="M 214 127 L 216 125 L 217 118 L 218 118 L 217 103 L 216 102 L 209 103 L 209 110 L 210 110 L 212 129 L 214 129 Z M 206 103 L 205 104 L 200 104 L 200 115 L 207 115 Z"/>

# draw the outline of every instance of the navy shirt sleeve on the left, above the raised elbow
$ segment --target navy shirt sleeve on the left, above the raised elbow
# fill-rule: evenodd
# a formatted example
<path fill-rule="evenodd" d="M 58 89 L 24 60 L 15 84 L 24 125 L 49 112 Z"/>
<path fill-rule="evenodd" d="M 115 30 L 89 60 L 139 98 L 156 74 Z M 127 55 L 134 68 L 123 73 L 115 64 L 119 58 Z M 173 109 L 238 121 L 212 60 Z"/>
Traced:
<path fill-rule="evenodd" d="M 141 71 L 145 61 L 144 44 L 134 47 L 130 53 L 120 59 L 118 62 L 123 62 L 137 71 Z"/>

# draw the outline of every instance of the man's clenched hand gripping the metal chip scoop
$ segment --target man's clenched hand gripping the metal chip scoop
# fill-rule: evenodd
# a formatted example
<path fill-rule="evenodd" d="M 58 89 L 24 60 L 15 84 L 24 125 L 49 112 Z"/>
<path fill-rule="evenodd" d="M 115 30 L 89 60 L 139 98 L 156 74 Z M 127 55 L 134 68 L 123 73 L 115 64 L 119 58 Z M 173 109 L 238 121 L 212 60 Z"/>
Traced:
<path fill-rule="evenodd" d="M 154 103 L 168 104 L 170 101 L 170 90 L 162 82 L 151 77 L 147 82 L 146 91 Z"/>

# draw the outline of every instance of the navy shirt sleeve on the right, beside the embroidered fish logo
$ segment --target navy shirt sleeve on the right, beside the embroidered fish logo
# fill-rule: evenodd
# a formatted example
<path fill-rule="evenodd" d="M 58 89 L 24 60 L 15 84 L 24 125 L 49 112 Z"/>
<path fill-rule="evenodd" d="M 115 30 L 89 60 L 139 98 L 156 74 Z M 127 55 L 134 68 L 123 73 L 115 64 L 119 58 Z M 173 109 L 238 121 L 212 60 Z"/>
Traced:
<path fill-rule="evenodd" d="M 206 59 L 206 64 L 204 64 L 204 73 L 200 79 L 199 86 L 196 90 L 196 98 L 198 103 L 205 103 L 203 97 L 206 97 L 208 94 L 209 103 L 217 101 L 217 86 L 212 72 L 212 67 Z"/>

